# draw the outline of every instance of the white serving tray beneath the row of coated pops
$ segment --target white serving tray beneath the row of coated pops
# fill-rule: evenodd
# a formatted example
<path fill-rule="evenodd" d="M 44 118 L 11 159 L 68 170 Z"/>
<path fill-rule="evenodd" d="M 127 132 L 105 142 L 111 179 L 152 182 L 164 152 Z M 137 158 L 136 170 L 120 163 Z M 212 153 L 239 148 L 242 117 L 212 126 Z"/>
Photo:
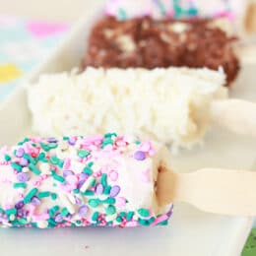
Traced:
<path fill-rule="evenodd" d="M 88 20 L 80 22 L 38 74 L 70 70 L 81 61 L 90 29 Z M 231 95 L 255 99 L 255 67 L 244 67 Z M 254 73 L 253 73 L 254 72 Z M 0 107 L 0 146 L 14 144 L 31 134 L 31 116 L 25 89 L 20 87 Z M 173 157 L 173 168 L 191 171 L 204 166 L 251 169 L 256 160 L 256 141 L 213 128 L 204 149 Z M 203 193 L 203 191 L 202 191 Z M 252 226 L 250 218 L 231 218 L 204 214 L 177 204 L 169 226 L 155 228 L 76 228 L 59 230 L 0 229 L 3 256 L 84 256 L 84 255 L 173 255 L 237 256 Z"/>

